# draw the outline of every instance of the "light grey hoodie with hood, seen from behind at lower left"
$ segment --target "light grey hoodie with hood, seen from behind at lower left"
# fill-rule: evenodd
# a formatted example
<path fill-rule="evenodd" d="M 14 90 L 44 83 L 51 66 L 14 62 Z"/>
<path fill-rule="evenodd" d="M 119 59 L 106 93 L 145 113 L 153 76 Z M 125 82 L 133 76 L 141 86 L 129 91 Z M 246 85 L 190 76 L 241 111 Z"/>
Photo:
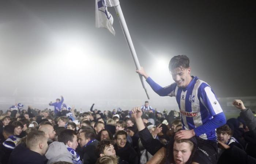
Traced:
<path fill-rule="evenodd" d="M 69 153 L 63 142 L 52 142 L 48 147 L 45 157 L 48 159 L 47 164 L 52 164 L 58 161 L 73 163 L 72 155 Z"/>

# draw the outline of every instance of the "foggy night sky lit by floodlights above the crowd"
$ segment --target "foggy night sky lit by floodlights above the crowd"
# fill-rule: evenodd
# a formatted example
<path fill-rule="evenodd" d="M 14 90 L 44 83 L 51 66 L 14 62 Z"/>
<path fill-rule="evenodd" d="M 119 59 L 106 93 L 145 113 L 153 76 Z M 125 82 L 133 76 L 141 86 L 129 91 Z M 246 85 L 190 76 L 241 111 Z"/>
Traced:
<path fill-rule="evenodd" d="M 146 100 L 114 8 L 109 12 L 116 36 L 95 28 L 94 0 L 0 3 L 2 99 L 28 98 L 27 102 L 44 104 L 64 95 L 86 107 L 95 99 L 98 104 L 108 99 L 131 104 L 135 99 L 141 102 L 138 105 Z M 253 1 L 120 0 L 120 4 L 140 65 L 159 85 L 173 82 L 169 60 L 184 54 L 190 58 L 191 74 L 206 81 L 217 97 L 256 96 Z M 76 59 L 69 63 L 75 50 L 62 60 L 71 40 L 74 49 L 82 47 L 79 53 L 87 56 L 86 62 L 73 56 Z M 147 88 L 152 104 L 164 99 Z"/>

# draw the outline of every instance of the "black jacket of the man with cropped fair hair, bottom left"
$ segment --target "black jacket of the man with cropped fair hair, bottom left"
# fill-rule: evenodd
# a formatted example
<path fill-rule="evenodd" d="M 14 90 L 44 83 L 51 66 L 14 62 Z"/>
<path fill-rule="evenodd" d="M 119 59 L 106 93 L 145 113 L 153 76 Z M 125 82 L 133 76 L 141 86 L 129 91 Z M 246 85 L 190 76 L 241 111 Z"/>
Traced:
<path fill-rule="evenodd" d="M 20 144 L 12 151 L 8 164 L 45 164 L 46 161 L 45 156 L 41 156 Z"/>

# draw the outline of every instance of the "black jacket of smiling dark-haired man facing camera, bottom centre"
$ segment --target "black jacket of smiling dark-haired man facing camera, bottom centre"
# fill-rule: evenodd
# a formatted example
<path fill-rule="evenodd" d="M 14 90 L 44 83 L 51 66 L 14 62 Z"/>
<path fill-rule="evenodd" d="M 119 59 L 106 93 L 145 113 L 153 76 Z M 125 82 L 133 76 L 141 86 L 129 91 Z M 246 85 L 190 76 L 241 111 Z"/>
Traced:
<path fill-rule="evenodd" d="M 117 145 L 115 145 L 114 148 L 116 155 L 120 157 L 121 161 L 127 161 L 129 164 L 139 164 L 139 157 L 129 142 L 126 142 L 124 148 L 118 149 Z"/>

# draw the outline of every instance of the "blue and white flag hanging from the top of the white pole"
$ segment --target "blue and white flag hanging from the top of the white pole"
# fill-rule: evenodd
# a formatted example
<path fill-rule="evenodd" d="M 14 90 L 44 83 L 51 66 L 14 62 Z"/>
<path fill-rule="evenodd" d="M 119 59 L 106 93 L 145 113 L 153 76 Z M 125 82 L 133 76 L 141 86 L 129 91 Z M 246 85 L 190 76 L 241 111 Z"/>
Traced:
<path fill-rule="evenodd" d="M 113 35 L 116 32 L 113 28 L 113 16 L 108 12 L 108 7 L 119 5 L 119 0 L 95 0 L 96 27 L 104 27 Z"/>

